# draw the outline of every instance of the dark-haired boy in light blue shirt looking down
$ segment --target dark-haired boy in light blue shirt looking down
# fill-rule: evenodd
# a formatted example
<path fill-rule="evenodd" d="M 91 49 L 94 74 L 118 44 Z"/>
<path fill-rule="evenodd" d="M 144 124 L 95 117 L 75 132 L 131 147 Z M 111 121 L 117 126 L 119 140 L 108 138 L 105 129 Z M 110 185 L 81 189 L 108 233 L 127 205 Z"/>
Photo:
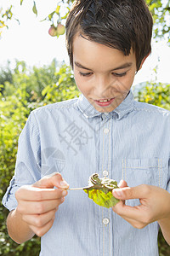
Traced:
<path fill-rule="evenodd" d="M 130 90 L 151 31 L 144 0 L 73 4 L 66 42 L 82 96 L 38 108 L 26 122 L 3 198 L 14 241 L 42 236 L 40 255 L 156 256 L 160 226 L 170 243 L 170 114 L 134 102 Z M 94 172 L 122 179 L 112 209 L 66 191 L 87 186 Z"/>

